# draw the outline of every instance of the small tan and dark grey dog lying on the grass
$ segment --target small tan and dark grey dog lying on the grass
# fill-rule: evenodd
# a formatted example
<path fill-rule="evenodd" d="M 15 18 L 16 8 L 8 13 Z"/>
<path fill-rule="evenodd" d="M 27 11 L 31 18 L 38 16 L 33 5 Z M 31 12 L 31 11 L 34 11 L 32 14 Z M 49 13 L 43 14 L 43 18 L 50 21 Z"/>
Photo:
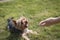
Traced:
<path fill-rule="evenodd" d="M 8 25 L 12 27 L 9 29 L 12 29 L 14 33 L 18 33 L 19 35 L 21 35 L 25 40 L 30 40 L 27 37 L 27 34 L 29 33 L 37 35 L 37 32 L 28 29 L 28 20 L 25 17 L 20 17 L 16 21 L 11 19 L 9 24 L 12 24 Z"/>

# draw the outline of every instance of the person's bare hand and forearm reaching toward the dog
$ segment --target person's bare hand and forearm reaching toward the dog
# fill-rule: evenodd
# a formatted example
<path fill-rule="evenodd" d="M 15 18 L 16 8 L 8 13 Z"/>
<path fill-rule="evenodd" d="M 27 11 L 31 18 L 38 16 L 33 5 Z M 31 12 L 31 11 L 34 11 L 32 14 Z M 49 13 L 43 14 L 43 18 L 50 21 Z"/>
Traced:
<path fill-rule="evenodd" d="M 53 24 L 57 24 L 60 23 L 60 17 L 56 17 L 56 18 L 48 18 L 46 20 L 43 20 L 39 23 L 40 26 L 50 26 Z"/>

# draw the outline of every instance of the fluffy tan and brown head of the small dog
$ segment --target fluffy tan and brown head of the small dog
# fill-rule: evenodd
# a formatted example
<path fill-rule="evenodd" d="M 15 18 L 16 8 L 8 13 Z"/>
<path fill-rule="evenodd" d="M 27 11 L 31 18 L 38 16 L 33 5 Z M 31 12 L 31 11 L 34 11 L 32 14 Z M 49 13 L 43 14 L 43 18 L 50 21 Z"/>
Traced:
<path fill-rule="evenodd" d="M 20 27 L 20 29 L 24 30 L 28 27 L 28 20 L 25 17 L 20 17 L 20 19 L 17 21 L 18 27 Z"/>

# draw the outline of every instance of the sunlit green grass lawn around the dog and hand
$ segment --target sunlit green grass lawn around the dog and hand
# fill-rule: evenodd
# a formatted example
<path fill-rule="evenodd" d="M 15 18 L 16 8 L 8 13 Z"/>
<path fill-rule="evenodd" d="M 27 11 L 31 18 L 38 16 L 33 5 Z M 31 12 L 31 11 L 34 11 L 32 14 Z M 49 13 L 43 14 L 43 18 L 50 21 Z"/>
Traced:
<path fill-rule="evenodd" d="M 0 29 L 4 30 L 0 33 L 0 40 L 7 40 L 6 38 L 10 34 L 5 29 L 7 19 L 14 17 L 16 20 L 21 16 L 25 16 L 29 20 L 28 28 L 39 34 L 29 34 L 31 40 L 60 40 L 60 24 L 48 27 L 38 26 L 41 20 L 60 16 L 60 0 L 13 0 L 0 3 Z M 13 39 L 11 38 L 11 40 Z"/>

